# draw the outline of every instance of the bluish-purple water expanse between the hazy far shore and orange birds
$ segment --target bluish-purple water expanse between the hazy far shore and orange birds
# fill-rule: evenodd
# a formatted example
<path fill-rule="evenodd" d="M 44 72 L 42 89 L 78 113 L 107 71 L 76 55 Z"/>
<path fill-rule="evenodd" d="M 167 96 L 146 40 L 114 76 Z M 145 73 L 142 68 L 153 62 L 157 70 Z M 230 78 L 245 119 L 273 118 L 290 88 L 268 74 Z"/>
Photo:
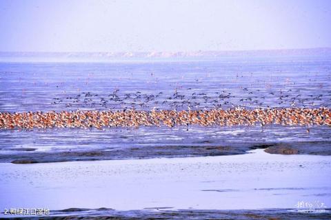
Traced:
<path fill-rule="evenodd" d="M 331 103 L 330 57 L 0 63 L 0 76 L 1 112 L 232 106 L 318 108 Z"/>

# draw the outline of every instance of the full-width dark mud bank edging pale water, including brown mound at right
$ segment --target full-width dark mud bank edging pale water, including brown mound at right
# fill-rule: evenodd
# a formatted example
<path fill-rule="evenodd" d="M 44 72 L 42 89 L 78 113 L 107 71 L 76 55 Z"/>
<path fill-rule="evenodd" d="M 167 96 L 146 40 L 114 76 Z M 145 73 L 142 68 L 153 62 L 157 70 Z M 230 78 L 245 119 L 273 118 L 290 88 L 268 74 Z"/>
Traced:
<path fill-rule="evenodd" d="M 207 157 L 245 154 L 248 150 L 265 149 L 270 154 L 331 155 L 331 141 L 291 143 L 224 143 L 216 145 L 191 144 L 168 146 L 128 146 L 125 148 L 105 147 L 98 150 L 66 151 L 18 151 L 16 154 L 0 154 L 0 162 L 48 163 L 63 161 L 96 161 L 111 159 L 150 159 L 160 157 Z"/>

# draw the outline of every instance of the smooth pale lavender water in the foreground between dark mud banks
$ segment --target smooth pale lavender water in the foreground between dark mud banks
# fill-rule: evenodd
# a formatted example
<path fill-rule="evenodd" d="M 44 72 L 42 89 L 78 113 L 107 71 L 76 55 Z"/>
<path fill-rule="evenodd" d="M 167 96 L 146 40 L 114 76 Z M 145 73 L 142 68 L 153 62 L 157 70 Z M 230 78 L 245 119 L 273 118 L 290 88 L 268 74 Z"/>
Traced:
<path fill-rule="evenodd" d="M 0 174 L 0 209 L 241 210 L 331 203 L 330 156 L 263 150 L 221 157 L 2 163 Z"/>

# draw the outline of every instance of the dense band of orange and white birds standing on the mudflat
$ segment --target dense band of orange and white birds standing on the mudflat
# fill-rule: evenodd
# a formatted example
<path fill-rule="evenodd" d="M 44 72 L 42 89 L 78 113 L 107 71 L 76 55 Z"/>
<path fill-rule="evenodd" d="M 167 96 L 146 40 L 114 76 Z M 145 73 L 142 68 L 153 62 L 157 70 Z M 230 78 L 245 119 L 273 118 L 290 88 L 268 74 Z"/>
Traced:
<path fill-rule="evenodd" d="M 139 126 L 331 126 L 330 108 L 229 110 L 0 112 L 0 128 L 103 128 Z"/>

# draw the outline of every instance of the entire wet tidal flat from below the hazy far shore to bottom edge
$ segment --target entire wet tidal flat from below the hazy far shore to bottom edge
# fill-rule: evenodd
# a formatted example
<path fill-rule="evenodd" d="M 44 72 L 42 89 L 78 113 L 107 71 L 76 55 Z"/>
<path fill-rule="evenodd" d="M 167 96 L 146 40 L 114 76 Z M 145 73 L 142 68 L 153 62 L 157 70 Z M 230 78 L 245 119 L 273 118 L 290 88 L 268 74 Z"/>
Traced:
<path fill-rule="evenodd" d="M 1 212 L 49 208 L 41 217 L 49 219 L 330 218 L 329 57 L 3 62 L 0 73 Z M 210 124 L 223 118 L 123 119 L 130 112 L 233 109 L 288 112 L 279 123 L 254 114 L 250 125 L 237 113 Z M 298 110 L 308 111 L 305 118 Z M 119 120 L 137 126 L 107 119 L 99 126 L 96 114 L 96 126 L 72 126 L 77 111 L 124 112 Z M 63 124 L 43 121 L 47 112 Z"/>

